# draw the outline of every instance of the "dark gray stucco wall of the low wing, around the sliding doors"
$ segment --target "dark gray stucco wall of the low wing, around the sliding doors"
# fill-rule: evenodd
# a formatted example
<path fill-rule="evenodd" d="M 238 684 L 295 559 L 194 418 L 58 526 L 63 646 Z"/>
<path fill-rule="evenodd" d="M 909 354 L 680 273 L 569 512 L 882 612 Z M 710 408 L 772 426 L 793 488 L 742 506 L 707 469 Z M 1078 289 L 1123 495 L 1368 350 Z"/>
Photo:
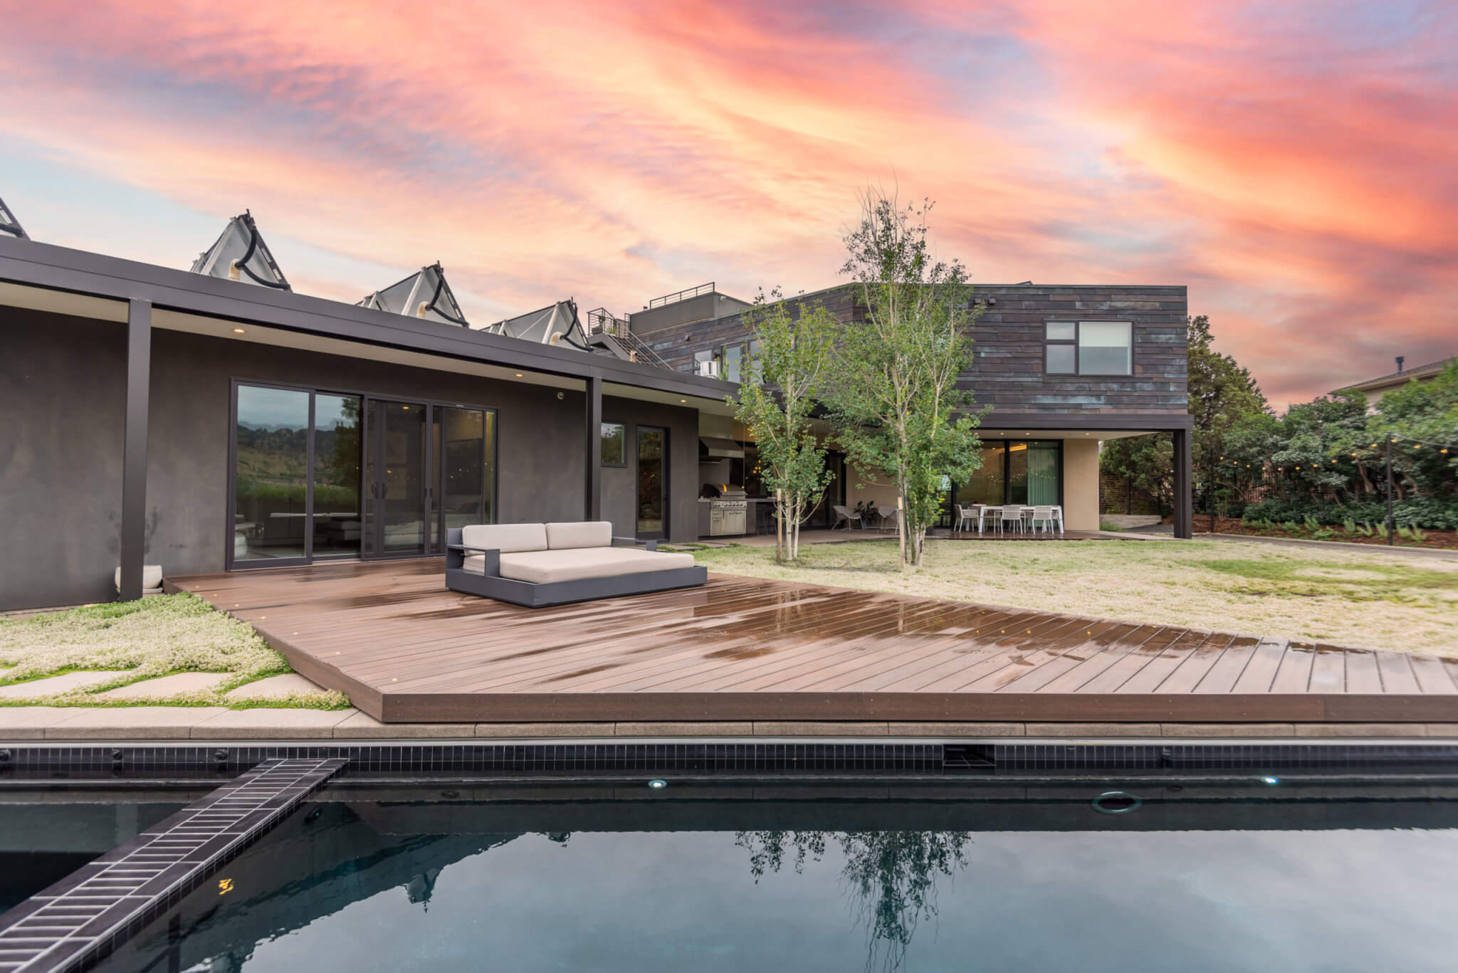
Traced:
<path fill-rule="evenodd" d="M 10 534 L 9 553 L 0 560 L 0 608 L 115 595 L 122 334 L 115 324 L 0 311 L 0 341 L 7 350 L 0 365 L 0 408 L 9 425 L 0 441 L 0 509 Z M 232 540 L 227 449 L 235 378 L 496 408 L 499 519 L 582 519 L 583 392 L 564 391 L 558 400 L 558 389 L 547 387 L 156 330 L 146 557 L 168 575 L 225 567 Z M 605 400 L 604 413 L 630 426 L 669 427 L 671 537 L 697 537 L 697 410 Z M 631 473 L 631 465 L 604 470 L 604 513 L 620 534 L 633 530 Z"/>

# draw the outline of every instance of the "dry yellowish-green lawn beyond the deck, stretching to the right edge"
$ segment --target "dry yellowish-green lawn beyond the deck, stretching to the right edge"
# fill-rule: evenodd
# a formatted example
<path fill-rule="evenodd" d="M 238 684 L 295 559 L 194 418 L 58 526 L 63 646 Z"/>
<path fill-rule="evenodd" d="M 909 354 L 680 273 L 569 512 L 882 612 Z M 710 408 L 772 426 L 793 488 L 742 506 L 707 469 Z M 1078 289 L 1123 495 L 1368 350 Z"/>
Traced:
<path fill-rule="evenodd" d="M 1239 541 L 927 541 L 695 550 L 710 570 L 1458 658 L 1458 559 L 1274 548 Z"/>

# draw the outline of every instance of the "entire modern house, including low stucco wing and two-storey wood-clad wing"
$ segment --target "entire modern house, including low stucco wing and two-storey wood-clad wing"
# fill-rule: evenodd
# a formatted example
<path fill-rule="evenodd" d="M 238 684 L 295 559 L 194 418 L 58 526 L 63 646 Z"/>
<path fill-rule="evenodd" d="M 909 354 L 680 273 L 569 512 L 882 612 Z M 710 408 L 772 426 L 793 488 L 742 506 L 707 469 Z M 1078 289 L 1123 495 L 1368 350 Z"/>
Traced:
<path fill-rule="evenodd" d="M 191 270 L 29 239 L 3 204 L 0 229 L 0 610 L 139 597 L 144 565 L 433 556 L 477 522 L 757 527 L 754 443 L 726 403 L 749 305 L 713 286 L 588 327 L 573 301 L 477 325 L 440 264 L 357 305 L 295 293 L 248 213 Z M 1168 430 L 1188 537 L 1184 287 L 975 295 L 965 381 L 994 408 L 949 500 L 1061 502 L 1096 528 L 1099 441 Z M 847 287 L 802 299 L 854 312 Z M 892 500 L 834 462 L 821 522 Z"/>

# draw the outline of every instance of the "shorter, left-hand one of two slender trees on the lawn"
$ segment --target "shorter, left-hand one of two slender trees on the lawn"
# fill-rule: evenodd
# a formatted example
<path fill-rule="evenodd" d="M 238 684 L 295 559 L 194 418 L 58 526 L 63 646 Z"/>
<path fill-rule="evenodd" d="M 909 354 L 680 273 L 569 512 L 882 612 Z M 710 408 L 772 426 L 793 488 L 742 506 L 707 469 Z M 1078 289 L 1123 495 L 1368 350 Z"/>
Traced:
<path fill-rule="evenodd" d="M 790 314 L 779 289 L 768 298 L 761 290 L 745 318 L 758 350 L 746 362 L 735 417 L 760 448 L 761 476 L 774 495 L 779 521 L 774 559 L 784 563 L 799 557 L 800 521 L 831 476 L 825 446 L 811 429 L 811 410 L 830 371 L 834 318 L 824 306 L 803 302 Z"/>

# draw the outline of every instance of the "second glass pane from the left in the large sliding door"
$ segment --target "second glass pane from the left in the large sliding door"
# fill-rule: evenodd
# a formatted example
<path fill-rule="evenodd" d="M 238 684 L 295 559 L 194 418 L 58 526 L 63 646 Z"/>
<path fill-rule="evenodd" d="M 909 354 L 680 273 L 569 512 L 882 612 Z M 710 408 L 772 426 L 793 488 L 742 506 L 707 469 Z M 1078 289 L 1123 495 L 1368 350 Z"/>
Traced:
<path fill-rule="evenodd" d="M 359 395 L 313 397 L 313 553 L 360 553 Z"/>

